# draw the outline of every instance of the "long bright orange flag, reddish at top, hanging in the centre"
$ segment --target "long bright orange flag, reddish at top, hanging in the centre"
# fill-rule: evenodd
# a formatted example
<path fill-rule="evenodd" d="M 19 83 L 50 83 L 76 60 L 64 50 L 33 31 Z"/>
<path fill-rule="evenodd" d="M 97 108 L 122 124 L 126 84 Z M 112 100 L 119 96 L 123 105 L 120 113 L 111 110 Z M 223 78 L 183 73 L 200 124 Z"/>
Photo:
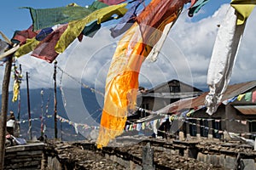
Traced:
<path fill-rule="evenodd" d="M 165 26 L 177 20 L 183 4 L 188 1 L 153 0 L 119 41 L 106 80 L 101 127 L 96 141 L 98 148 L 107 146 L 111 139 L 123 133 L 127 113 L 136 106 L 138 76 L 143 61 L 159 41 Z M 155 16 L 158 18 L 154 19 Z"/>

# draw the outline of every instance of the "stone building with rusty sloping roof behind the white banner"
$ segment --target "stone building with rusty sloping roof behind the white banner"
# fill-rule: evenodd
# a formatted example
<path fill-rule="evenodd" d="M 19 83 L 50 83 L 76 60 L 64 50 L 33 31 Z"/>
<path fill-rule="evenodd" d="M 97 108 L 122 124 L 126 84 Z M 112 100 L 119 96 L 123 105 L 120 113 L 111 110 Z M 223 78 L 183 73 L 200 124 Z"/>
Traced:
<path fill-rule="evenodd" d="M 206 95 L 204 93 L 196 98 L 179 100 L 159 112 L 175 115 L 183 120 L 177 122 L 182 124 L 179 130 L 184 138 L 220 139 L 224 131 L 249 139 L 255 138 L 256 81 L 228 86 L 218 110 L 212 116 L 206 112 Z"/>

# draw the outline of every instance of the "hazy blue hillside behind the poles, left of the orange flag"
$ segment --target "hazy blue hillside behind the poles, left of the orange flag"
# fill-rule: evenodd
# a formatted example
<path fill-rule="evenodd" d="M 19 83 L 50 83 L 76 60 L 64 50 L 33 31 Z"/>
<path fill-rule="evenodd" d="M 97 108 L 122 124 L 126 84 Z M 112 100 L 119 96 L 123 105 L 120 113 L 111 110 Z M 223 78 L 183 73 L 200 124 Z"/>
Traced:
<path fill-rule="evenodd" d="M 101 111 L 99 111 L 100 106 L 96 100 L 96 94 L 92 93 L 90 89 L 88 88 L 82 88 L 81 94 L 83 97 L 84 106 L 86 109 L 90 112 L 90 114 L 93 114 L 92 117 L 96 119 L 96 122 L 100 122 L 100 114 Z M 15 117 L 17 118 L 17 111 L 18 111 L 18 101 L 13 103 L 11 101 L 12 99 L 12 92 L 9 93 L 9 111 L 12 110 L 15 112 Z M 2 94 L 0 95 L 0 101 L 2 99 Z M 28 139 L 27 137 L 27 131 L 28 131 L 28 122 L 25 122 L 28 119 L 28 113 L 27 113 L 27 94 L 26 89 L 21 89 L 20 91 L 20 133 L 23 136 L 23 138 Z M 46 122 L 46 131 L 45 134 L 48 136 L 48 138 L 54 138 L 54 90 L 52 88 L 44 89 L 44 95 L 43 95 L 43 110 L 44 113 L 46 112 L 46 105 L 49 100 L 48 105 L 48 116 L 52 116 L 49 118 L 45 118 Z M 57 89 L 57 114 L 65 119 L 67 118 L 67 113 L 65 111 L 62 97 L 61 97 L 61 90 Z M 1 102 L 2 103 L 2 102 Z M 31 116 L 32 119 L 40 118 L 42 114 L 42 95 L 41 95 L 41 89 L 30 89 L 30 105 L 31 105 Z M 1 107 L 1 105 L 0 105 Z M 75 114 L 76 111 L 74 111 Z M 36 136 L 37 138 L 40 136 L 40 126 L 41 121 L 35 120 L 32 121 L 32 136 Z M 67 122 L 60 122 L 58 121 L 58 138 L 61 139 L 61 127 L 62 127 L 62 139 L 66 141 L 70 140 L 81 140 L 84 139 L 84 136 L 75 133 L 75 129 L 72 125 L 70 125 Z"/>

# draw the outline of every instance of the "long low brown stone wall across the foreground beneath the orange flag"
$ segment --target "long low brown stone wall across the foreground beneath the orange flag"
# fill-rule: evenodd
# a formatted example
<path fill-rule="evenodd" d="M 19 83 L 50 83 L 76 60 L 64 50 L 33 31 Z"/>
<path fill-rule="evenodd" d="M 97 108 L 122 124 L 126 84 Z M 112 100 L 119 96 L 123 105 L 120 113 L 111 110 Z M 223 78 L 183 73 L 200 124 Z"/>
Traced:
<path fill-rule="evenodd" d="M 122 145 L 132 139 L 119 140 L 102 150 L 88 141 L 54 143 L 47 151 L 46 169 L 143 169 L 143 148 L 149 143 L 155 169 L 256 170 L 256 151 L 240 142 L 145 139 Z"/>

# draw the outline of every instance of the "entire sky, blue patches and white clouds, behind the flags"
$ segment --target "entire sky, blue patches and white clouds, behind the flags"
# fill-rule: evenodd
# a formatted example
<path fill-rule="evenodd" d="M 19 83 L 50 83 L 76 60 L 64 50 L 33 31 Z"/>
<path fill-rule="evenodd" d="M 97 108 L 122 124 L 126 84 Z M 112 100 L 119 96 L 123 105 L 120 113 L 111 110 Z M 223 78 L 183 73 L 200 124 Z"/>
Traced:
<path fill-rule="evenodd" d="M 15 30 L 25 30 L 32 25 L 29 10 L 20 9 L 20 7 L 56 8 L 66 6 L 68 3 L 78 3 L 81 6 L 85 6 L 90 5 L 92 2 L 92 0 L 4 1 L 4 5 L 0 7 L 0 13 L 1 16 L 6 17 L 0 17 L 0 31 L 3 31 L 10 38 L 13 36 Z M 139 81 L 145 87 L 149 88 L 174 78 L 181 78 L 181 81 L 191 84 L 191 81 L 188 81 L 189 75 L 190 79 L 191 77 L 193 79 L 193 84 L 191 85 L 194 85 L 196 88 L 207 88 L 207 69 L 218 31 L 217 25 L 221 24 L 221 21 L 224 19 L 229 6 L 228 3 L 230 3 L 230 0 L 210 0 L 193 18 L 189 18 L 187 14 L 189 4 L 186 5 L 183 13 L 179 16 L 168 35 L 169 39 L 166 42 L 166 47 L 162 50 L 162 55 L 173 55 L 175 58 L 172 59 L 169 57 L 168 59 L 166 58 L 166 61 L 160 55 L 155 63 L 143 63 Z M 247 20 L 246 30 L 241 41 L 231 83 L 256 79 L 254 76 L 256 71 L 254 66 L 256 65 L 256 48 L 254 47 L 256 43 L 255 22 L 256 12 L 254 10 L 249 20 Z M 115 21 L 113 20 L 111 23 L 113 24 Z M 65 53 L 58 56 L 59 66 L 65 68 L 68 74 L 78 78 L 80 82 L 84 82 L 85 84 L 97 83 L 93 88 L 103 88 L 108 66 L 116 48 L 114 43 L 118 41 L 118 39 L 113 39 L 109 35 L 109 30 L 102 28 L 93 38 L 84 37 L 83 42 L 73 42 Z M 99 54 L 100 57 L 97 58 L 96 54 Z M 180 57 L 177 58 L 176 55 L 180 56 L 180 54 L 183 55 L 183 60 Z M 89 57 L 89 59 L 84 58 L 84 55 Z M 30 72 L 31 88 L 53 87 L 53 65 L 50 65 L 43 59 L 31 57 L 29 54 L 17 60 L 19 64 L 23 65 L 24 75 L 26 71 Z M 188 68 L 189 74 L 183 71 L 183 63 L 187 63 L 186 67 Z M 70 67 L 70 65 L 75 65 L 75 68 L 73 66 Z M 1 82 L 3 79 L 3 70 L 4 67 L 0 66 Z M 81 74 L 81 71 L 84 72 Z M 183 76 L 180 77 L 180 75 Z M 60 71 L 58 77 L 61 77 Z M 68 82 L 67 84 L 73 84 L 73 80 L 66 79 L 66 81 Z M 13 80 L 11 80 L 12 82 Z M 22 83 L 21 88 L 26 88 L 26 83 Z M 0 93 L 1 90 L 2 83 L 0 83 Z"/>

